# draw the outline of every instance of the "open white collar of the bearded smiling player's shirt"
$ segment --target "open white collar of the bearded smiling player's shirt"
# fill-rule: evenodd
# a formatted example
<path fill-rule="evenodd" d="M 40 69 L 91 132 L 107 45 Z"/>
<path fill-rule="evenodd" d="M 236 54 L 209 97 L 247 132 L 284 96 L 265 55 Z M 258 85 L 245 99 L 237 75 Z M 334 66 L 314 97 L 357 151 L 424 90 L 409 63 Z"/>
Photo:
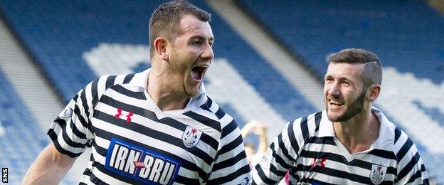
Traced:
<path fill-rule="evenodd" d="M 374 149 L 384 149 L 391 151 L 393 150 L 394 144 L 394 130 L 395 125 L 390 122 L 386 115 L 376 107 L 371 107 L 371 112 L 378 118 L 381 123 L 379 127 L 379 137 L 376 139 L 374 144 L 371 145 Z M 334 134 L 333 123 L 328 120 L 327 111 L 322 111 L 322 119 L 319 123 L 319 137 L 336 137 Z"/>

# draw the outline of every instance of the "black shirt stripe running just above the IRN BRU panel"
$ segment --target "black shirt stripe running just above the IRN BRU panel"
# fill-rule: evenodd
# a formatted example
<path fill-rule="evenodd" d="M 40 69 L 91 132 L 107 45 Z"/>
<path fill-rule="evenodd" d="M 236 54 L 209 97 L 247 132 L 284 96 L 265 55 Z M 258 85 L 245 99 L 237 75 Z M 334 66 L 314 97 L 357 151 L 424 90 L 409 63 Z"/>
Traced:
<path fill-rule="evenodd" d="M 201 149 L 199 149 L 197 147 L 193 147 L 191 149 L 186 148 L 185 145 L 183 144 L 182 139 L 179 139 L 177 137 L 173 137 L 170 134 L 166 134 L 164 132 L 159 132 L 155 129 L 151 129 L 151 128 L 145 127 L 143 125 L 136 124 L 134 122 L 126 122 L 125 120 L 122 120 L 122 119 L 116 119 L 116 117 L 114 117 L 112 115 L 107 115 L 105 112 L 100 112 L 99 110 L 95 110 L 94 117 L 97 118 L 98 120 L 102 120 L 102 121 L 107 122 L 109 124 L 117 125 L 119 127 L 123 127 L 123 128 L 129 129 L 129 130 L 132 130 L 133 132 L 137 132 L 139 134 L 143 134 L 148 137 L 157 139 L 159 141 L 169 143 L 169 144 L 174 145 L 178 148 L 187 150 L 188 152 L 190 152 L 194 156 L 202 159 L 203 162 L 206 162 L 206 164 L 208 164 L 208 165 L 211 165 L 211 163 L 213 163 L 214 159 L 211 156 L 209 156 L 206 152 L 203 152 Z M 95 129 L 97 129 L 97 128 L 95 127 Z M 118 132 L 115 132 L 115 134 L 117 134 L 117 133 Z M 96 135 L 98 137 L 102 137 L 102 135 L 97 133 L 97 130 L 96 130 Z M 128 138 L 128 139 L 130 139 L 130 138 Z"/>

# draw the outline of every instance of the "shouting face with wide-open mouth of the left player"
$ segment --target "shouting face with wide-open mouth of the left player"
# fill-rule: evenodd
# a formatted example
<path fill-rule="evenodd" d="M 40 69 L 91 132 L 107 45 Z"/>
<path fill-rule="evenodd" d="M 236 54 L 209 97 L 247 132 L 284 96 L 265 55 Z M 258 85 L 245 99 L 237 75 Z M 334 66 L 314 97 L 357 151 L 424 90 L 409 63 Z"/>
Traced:
<path fill-rule="evenodd" d="M 186 15 L 171 44 L 169 75 L 174 89 L 186 97 L 199 93 L 203 77 L 213 60 L 214 36 L 208 22 Z"/>

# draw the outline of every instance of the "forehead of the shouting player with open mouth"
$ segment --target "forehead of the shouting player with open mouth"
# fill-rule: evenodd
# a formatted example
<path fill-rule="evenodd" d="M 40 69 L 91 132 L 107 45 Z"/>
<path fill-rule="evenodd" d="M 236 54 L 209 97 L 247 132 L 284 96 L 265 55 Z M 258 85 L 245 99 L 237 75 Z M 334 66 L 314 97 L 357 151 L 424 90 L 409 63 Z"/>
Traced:
<path fill-rule="evenodd" d="M 203 22 L 191 15 L 185 15 L 181 18 L 179 33 L 186 36 L 203 36 L 206 38 L 214 38 L 210 23 Z"/>

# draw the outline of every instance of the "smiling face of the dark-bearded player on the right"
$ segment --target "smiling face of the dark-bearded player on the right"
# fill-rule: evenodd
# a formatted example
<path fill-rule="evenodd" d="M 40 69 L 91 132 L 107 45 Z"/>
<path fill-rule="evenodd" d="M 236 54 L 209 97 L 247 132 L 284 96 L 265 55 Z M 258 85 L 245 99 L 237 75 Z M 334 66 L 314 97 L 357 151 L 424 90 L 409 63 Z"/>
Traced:
<path fill-rule="evenodd" d="M 361 72 L 364 65 L 330 63 L 324 78 L 327 116 L 332 122 L 344 122 L 362 112 L 366 100 Z"/>

